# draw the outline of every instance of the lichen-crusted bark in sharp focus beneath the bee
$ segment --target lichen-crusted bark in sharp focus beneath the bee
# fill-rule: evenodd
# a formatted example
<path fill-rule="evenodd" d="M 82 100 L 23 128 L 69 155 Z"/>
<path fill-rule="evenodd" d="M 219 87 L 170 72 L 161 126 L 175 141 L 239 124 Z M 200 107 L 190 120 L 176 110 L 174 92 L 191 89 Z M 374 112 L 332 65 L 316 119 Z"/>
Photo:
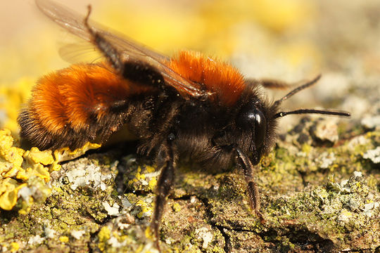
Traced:
<path fill-rule="evenodd" d="M 295 131 L 286 139 L 263 158 L 256 174 L 263 224 L 248 207 L 239 168 L 222 174 L 179 168 L 161 225 L 163 251 L 380 247 L 379 173 L 364 155 L 379 145 L 380 133 L 368 132 L 332 148 L 289 142 L 297 140 Z M 150 160 L 117 153 L 63 164 L 51 173 L 53 191 L 46 202 L 27 215 L 2 213 L 4 249 L 17 242 L 23 251 L 156 252 L 149 223 L 159 171 Z M 118 167 L 125 174 L 118 176 Z M 122 193 L 116 191 L 118 181 L 126 187 Z"/>

